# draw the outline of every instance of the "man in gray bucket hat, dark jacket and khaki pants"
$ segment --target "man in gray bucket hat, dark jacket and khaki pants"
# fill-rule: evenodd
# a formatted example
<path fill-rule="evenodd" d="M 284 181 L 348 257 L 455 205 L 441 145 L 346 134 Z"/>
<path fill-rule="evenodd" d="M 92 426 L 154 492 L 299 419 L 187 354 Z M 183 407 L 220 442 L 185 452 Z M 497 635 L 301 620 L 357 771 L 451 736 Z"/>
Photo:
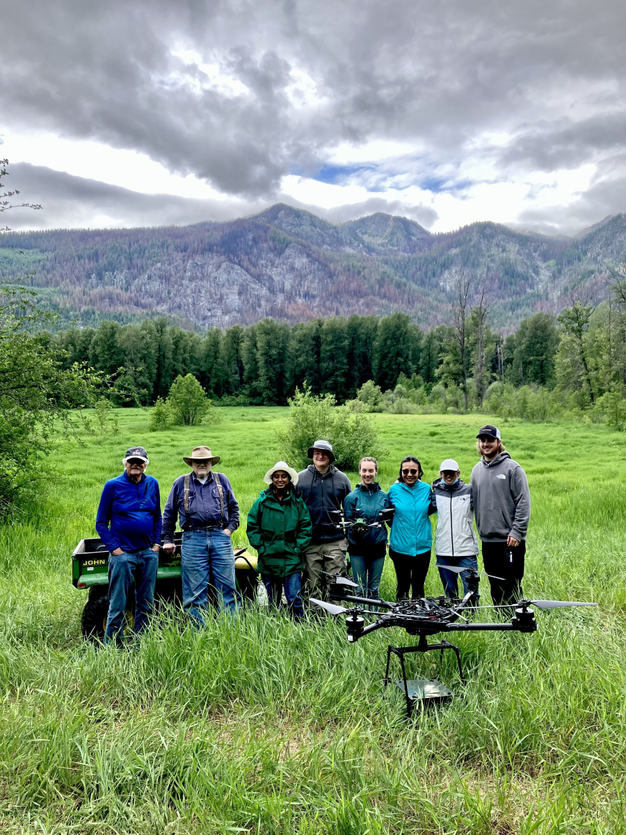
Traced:
<path fill-rule="evenodd" d="M 352 486 L 349 478 L 334 466 L 331 443 L 316 441 L 307 450 L 313 463 L 298 473 L 298 487 L 313 524 L 310 545 L 305 549 L 307 597 L 319 597 L 321 573 L 346 574 L 348 541 L 336 524 Z"/>

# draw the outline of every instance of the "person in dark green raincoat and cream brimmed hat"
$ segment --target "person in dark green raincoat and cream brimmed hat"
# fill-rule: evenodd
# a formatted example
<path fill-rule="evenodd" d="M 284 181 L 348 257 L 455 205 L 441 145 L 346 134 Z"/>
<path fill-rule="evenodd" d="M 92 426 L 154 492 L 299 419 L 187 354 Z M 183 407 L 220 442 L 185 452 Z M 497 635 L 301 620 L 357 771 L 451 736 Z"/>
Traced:
<path fill-rule="evenodd" d="M 309 511 L 300 497 L 298 473 L 278 461 L 263 479 L 263 490 L 248 514 L 248 542 L 259 554 L 257 569 L 270 605 L 280 606 L 283 591 L 295 620 L 304 615 L 300 589 L 302 552 L 310 543 Z"/>

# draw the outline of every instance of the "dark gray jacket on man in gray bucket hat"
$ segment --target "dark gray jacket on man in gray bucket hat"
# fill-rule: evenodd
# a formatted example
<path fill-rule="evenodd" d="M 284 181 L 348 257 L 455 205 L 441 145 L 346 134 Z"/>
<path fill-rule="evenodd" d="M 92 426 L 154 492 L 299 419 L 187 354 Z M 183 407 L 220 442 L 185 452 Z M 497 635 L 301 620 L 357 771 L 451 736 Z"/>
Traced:
<path fill-rule="evenodd" d="M 343 507 L 347 494 L 352 490 L 349 478 L 332 464 L 324 475 L 320 475 L 313 464 L 309 464 L 298 473 L 298 488 L 313 523 L 311 544 L 344 539 L 342 529 L 336 528 L 341 519 L 339 516 L 331 516 L 329 510 L 341 510 Z"/>

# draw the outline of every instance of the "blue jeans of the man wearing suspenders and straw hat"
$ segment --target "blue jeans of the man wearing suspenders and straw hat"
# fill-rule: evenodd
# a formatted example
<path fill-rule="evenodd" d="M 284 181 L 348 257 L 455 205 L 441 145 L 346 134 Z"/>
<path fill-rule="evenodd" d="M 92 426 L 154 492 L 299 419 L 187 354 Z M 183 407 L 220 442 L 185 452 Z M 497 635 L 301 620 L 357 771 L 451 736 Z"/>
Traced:
<path fill-rule="evenodd" d="M 215 587 L 220 611 L 235 616 L 235 554 L 230 536 L 219 528 L 185 530 L 180 546 L 183 608 L 204 623 L 209 586 Z"/>

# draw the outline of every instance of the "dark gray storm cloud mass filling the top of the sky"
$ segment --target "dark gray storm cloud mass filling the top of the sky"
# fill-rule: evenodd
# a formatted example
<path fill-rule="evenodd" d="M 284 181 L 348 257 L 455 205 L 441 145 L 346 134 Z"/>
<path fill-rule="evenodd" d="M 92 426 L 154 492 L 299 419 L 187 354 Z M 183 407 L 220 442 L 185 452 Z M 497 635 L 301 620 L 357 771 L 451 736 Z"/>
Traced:
<path fill-rule="evenodd" d="M 4 12 L 0 105 L 9 124 L 137 149 L 253 202 L 345 141 L 403 140 L 450 164 L 479 144 L 502 172 L 556 170 L 623 148 L 625 10 L 30 0 Z M 204 63 L 230 82 L 210 86 Z M 514 139 L 491 150 L 490 132 Z"/>

